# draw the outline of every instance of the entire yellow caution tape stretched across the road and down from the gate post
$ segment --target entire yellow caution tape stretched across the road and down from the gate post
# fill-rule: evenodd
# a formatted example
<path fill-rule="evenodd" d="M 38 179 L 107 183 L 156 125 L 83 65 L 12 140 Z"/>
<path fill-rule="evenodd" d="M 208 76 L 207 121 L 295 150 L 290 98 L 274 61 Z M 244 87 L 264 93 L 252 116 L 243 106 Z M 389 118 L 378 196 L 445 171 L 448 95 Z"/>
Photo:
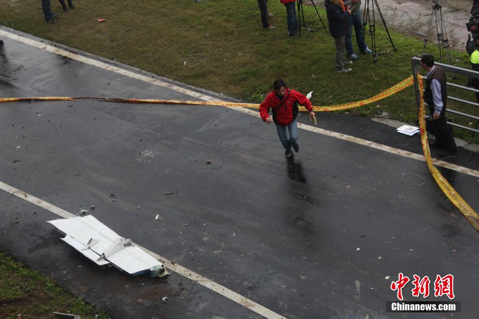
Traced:
<path fill-rule="evenodd" d="M 428 136 L 425 130 L 425 111 L 424 101 L 422 100 L 422 76 L 418 75 L 418 81 L 421 87 L 421 105 L 419 109 L 419 126 L 421 132 L 422 150 L 429 170 L 434 179 L 438 183 L 441 190 L 446 194 L 451 202 L 458 207 L 464 217 L 479 231 L 479 216 L 477 213 L 466 203 L 466 201 L 456 192 L 456 190 L 447 182 L 442 174 L 434 167 L 431 152 L 429 150 Z M 328 112 L 328 111 L 340 111 L 352 108 L 362 107 L 363 105 L 374 103 L 389 97 L 397 92 L 400 92 L 407 87 L 414 84 L 414 77 L 411 75 L 404 81 L 394 85 L 393 87 L 384 90 L 383 92 L 372 96 L 367 99 L 363 99 L 356 102 L 337 104 L 329 107 L 313 107 L 313 111 L 316 112 Z M 255 103 L 237 103 L 237 102 L 223 102 L 223 101 L 187 101 L 187 100 L 162 100 L 162 99 L 123 99 L 123 98 L 108 98 L 108 97 L 17 97 L 17 98 L 0 98 L 0 102 L 15 102 L 15 101 L 73 101 L 73 100 L 94 100 L 105 102 L 120 102 L 120 103 L 151 103 L 151 104 L 190 104 L 190 105 L 220 105 L 223 107 L 243 107 L 258 109 L 259 104 Z M 300 111 L 306 111 L 304 107 L 300 107 Z"/>

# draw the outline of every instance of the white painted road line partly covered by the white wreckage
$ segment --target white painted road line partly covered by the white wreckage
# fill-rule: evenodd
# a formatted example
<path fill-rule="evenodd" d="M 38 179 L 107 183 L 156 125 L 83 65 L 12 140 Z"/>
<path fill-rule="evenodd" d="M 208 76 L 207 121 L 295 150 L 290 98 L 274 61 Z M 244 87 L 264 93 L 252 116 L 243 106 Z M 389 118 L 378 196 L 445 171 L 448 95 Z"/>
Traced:
<path fill-rule="evenodd" d="M 15 195 L 17 197 L 20 197 L 21 199 L 24 199 L 26 201 L 31 202 L 32 204 L 35 204 L 37 206 L 40 206 L 48 211 L 51 211 L 54 214 L 57 214 L 58 216 L 61 216 L 63 218 L 74 218 L 76 215 L 71 214 L 71 212 L 68 212 L 60 207 L 57 207 L 55 205 L 52 205 L 50 203 L 45 202 L 44 200 L 32 196 L 28 193 L 25 193 L 23 191 L 20 191 L 19 189 L 14 188 L 13 186 L 10 186 L 9 184 L 6 184 L 2 181 L 0 181 L 0 189 L 4 190 L 7 193 L 10 193 L 12 195 Z M 260 304 L 241 296 L 240 294 L 235 293 L 233 290 L 230 290 L 226 288 L 225 286 L 220 285 L 219 283 L 216 283 L 206 277 L 201 276 L 200 274 L 195 273 L 194 271 L 191 271 L 187 268 L 184 268 L 183 266 L 172 262 L 171 260 L 166 259 L 165 257 L 162 257 L 138 244 L 137 245 L 139 248 L 143 249 L 145 252 L 147 252 L 151 257 L 158 259 L 159 261 L 163 262 L 163 264 L 166 265 L 166 267 L 175 273 L 184 276 L 186 278 L 189 278 L 193 280 L 196 283 L 199 283 L 202 286 L 205 286 L 206 288 L 209 288 L 215 293 L 218 293 L 260 315 L 262 315 L 265 318 L 271 318 L 271 319 L 286 319 L 286 317 L 283 317 L 282 315 L 277 314 L 276 312 L 265 308 L 261 306 Z"/>

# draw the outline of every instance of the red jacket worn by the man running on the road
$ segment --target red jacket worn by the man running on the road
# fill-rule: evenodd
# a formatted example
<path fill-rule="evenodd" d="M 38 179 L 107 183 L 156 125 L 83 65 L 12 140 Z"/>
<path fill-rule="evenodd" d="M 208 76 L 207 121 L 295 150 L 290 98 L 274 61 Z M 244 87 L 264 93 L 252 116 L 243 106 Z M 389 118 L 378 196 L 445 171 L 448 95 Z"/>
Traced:
<path fill-rule="evenodd" d="M 280 99 L 276 91 L 273 90 L 268 94 L 261 105 L 259 105 L 259 115 L 263 121 L 266 121 L 270 116 L 270 109 L 272 109 L 273 121 L 278 125 L 288 125 L 296 120 L 299 111 L 298 103 L 303 105 L 308 111 L 312 111 L 313 109 L 308 98 L 298 91 L 286 88 L 286 93 L 284 93 L 283 98 Z"/>

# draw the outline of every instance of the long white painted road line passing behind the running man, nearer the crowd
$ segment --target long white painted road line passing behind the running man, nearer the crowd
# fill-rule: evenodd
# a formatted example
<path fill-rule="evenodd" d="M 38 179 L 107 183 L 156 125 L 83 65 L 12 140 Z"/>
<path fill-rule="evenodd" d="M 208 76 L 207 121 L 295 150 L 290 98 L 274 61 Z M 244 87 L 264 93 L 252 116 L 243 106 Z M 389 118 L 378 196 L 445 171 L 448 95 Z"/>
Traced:
<path fill-rule="evenodd" d="M 103 63 L 103 62 L 96 61 L 96 60 L 93 60 L 93 59 L 90 59 L 90 58 L 82 57 L 82 56 L 79 56 L 79 55 L 74 54 L 72 52 L 68 52 L 64 49 L 60 49 L 60 48 L 57 48 L 55 46 L 51 46 L 51 45 L 48 45 L 48 44 L 41 43 L 39 41 L 28 39 L 28 38 L 25 38 L 25 37 L 7 32 L 7 31 L 2 30 L 2 29 L 0 29 L 0 35 L 2 35 L 4 37 L 7 37 L 7 38 L 10 38 L 10 39 L 13 39 L 13 40 L 16 40 L 16 41 L 19 41 L 19 42 L 22 42 L 22 43 L 25 43 L 25 44 L 29 44 L 31 46 L 34 46 L 34 47 L 37 47 L 37 48 L 40 48 L 40 49 L 43 49 L 43 50 L 46 50 L 48 52 L 55 53 L 55 54 L 63 56 L 63 57 L 67 57 L 67 58 L 70 58 L 70 59 L 73 59 L 73 60 L 76 60 L 76 61 L 80 61 L 80 62 L 89 64 L 89 65 L 96 66 L 98 68 L 102 68 L 102 69 L 112 71 L 112 72 L 115 72 L 115 73 L 118 73 L 118 74 L 122 74 L 122 75 L 125 75 L 125 76 L 128 76 L 128 77 L 131 77 L 131 78 L 135 78 L 135 79 L 138 79 L 140 81 L 148 82 L 148 83 L 160 86 L 160 87 L 168 88 L 170 90 L 173 90 L 173 91 L 176 91 L 176 92 L 179 92 L 179 93 L 183 93 L 183 94 L 187 94 L 187 95 L 190 95 L 192 97 L 200 98 L 200 99 L 205 100 L 205 101 L 219 101 L 219 99 L 212 98 L 210 96 L 207 96 L 207 95 L 204 95 L 204 94 L 201 94 L 201 93 L 197 93 L 197 92 L 194 92 L 194 91 L 191 91 L 191 90 L 188 90 L 188 89 L 184 89 L 184 88 L 178 87 L 178 86 L 173 85 L 173 84 L 169 84 L 169 83 L 166 83 L 166 82 L 163 82 L 163 81 L 159 81 L 158 79 L 154 79 L 154 78 L 151 78 L 151 77 L 148 77 L 148 76 L 137 74 L 135 72 L 124 70 L 124 69 L 121 69 L 119 67 L 107 64 L 107 63 Z M 238 111 L 238 112 L 242 112 L 242 113 L 245 113 L 245 114 L 248 114 L 248 115 L 259 117 L 258 112 L 250 110 L 250 109 L 240 108 L 240 107 L 227 107 L 227 108 Z M 334 132 L 334 131 L 318 128 L 318 127 L 311 126 L 311 125 L 306 125 L 306 124 L 300 124 L 299 123 L 298 127 L 302 128 L 302 129 L 305 129 L 305 130 L 309 130 L 311 132 L 318 133 L 318 134 L 338 138 L 338 139 L 341 139 L 341 140 L 344 140 L 344 141 L 349 141 L 349 142 L 352 142 L 352 143 L 356 143 L 356 144 L 368 146 L 368 147 L 371 147 L 371 148 L 375 148 L 375 149 L 378 149 L 378 150 L 382 150 L 382 151 L 385 151 L 385 152 L 388 152 L 388 153 L 401 155 L 401 156 L 417 159 L 417 161 L 425 162 L 424 156 L 416 154 L 416 153 L 404 151 L 404 150 L 397 149 L 397 148 L 390 147 L 390 146 L 386 146 L 386 145 L 383 145 L 383 144 L 374 143 L 374 142 L 363 140 L 363 139 L 360 139 L 360 138 L 355 138 L 355 137 L 352 137 L 352 136 L 349 136 L 349 135 L 344 135 L 344 134 L 341 134 L 341 133 L 337 133 L 337 132 Z M 460 173 L 464 173 L 464 174 L 472 175 L 472 176 L 475 176 L 475 177 L 479 177 L 479 171 L 469 169 L 469 168 L 466 168 L 466 167 L 463 167 L 463 166 L 455 165 L 455 164 L 450 164 L 450 163 L 447 163 L 447 162 L 442 162 L 442 161 L 439 161 L 438 159 L 435 159 L 435 158 L 433 158 L 433 164 L 437 165 L 437 166 L 440 166 L 440 167 L 450 169 L 450 170 L 454 170 L 454 171 L 457 171 L 457 172 L 460 172 Z"/>

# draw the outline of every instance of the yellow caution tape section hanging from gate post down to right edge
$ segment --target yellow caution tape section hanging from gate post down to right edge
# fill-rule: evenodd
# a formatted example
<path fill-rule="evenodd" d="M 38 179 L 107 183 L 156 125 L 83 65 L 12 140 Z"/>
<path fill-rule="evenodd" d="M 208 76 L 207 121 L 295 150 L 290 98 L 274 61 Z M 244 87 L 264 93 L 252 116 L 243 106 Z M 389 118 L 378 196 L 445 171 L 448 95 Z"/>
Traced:
<path fill-rule="evenodd" d="M 422 151 L 424 152 L 424 157 L 426 159 L 426 163 L 428 164 L 429 171 L 433 175 L 434 179 L 436 180 L 437 184 L 441 188 L 441 190 L 446 194 L 447 198 L 451 202 L 453 202 L 456 207 L 462 212 L 462 215 L 469 221 L 469 223 L 474 226 L 476 230 L 479 231 L 479 216 L 474 211 L 474 209 L 469 206 L 466 201 L 461 197 L 461 195 L 456 192 L 456 190 L 449 184 L 449 182 L 442 176 L 442 174 L 437 170 L 437 168 L 433 165 L 433 161 L 431 159 L 431 151 L 429 150 L 429 143 L 428 143 L 428 134 L 426 132 L 426 121 L 425 121 L 425 107 L 424 107 L 424 100 L 422 99 L 422 88 L 423 88 L 423 79 L 421 75 L 417 75 L 419 88 L 421 92 L 421 105 L 419 107 L 419 129 L 421 132 L 421 143 L 422 143 Z"/>

